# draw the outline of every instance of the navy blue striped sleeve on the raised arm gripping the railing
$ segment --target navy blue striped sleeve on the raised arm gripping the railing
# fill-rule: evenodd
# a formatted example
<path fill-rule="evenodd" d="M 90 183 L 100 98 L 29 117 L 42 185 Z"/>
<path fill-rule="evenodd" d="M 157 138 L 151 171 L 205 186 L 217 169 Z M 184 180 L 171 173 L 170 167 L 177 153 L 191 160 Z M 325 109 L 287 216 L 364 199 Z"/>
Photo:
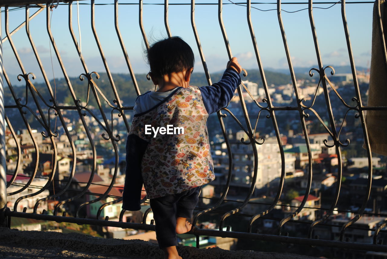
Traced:
<path fill-rule="evenodd" d="M 222 79 L 210 86 L 199 87 L 203 104 L 208 114 L 225 107 L 234 96 L 236 87 L 241 84 L 241 77 L 233 68 L 224 71 Z"/>

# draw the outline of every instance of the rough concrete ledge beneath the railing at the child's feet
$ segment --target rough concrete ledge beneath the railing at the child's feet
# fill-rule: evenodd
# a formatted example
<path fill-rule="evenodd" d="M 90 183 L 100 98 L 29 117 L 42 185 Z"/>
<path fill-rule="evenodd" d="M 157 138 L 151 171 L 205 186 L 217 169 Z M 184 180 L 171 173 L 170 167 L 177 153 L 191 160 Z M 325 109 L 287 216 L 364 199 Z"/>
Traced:
<path fill-rule="evenodd" d="M 12 246 L 18 248 L 34 247 L 37 249 L 46 247 L 51 250 L 53 248 L 59 248 L 66 251 L 98 254 L 99 256 L 97 258 L 105 258 L 104 256 L 106 256 L 106 258 L 111 258 L 111 256 L 124 256 L 125 258 L 132 259 L 163 258 L 163 252 L 158 248 L 158 245 L 150 242 L 143 240 L 103 239 L 78 233 L 63 234 L 57 232 L 19 231 L 0 227 L 0 242 L 8 248 Z M 179 245 L 177 249 L 183 259 L 317 259 L 317 257 L 302 256 L 297 254 L 280 254 L 242 250 L 229 251 L 220 249 L 219 247 L 196 249 L 195 247 Z M 23 255 L 25 255 L 25 249 L 21 249 L 20 251 Z M 53 252 L 53 254 L 55 254 L 55 256 L 48 256 L 46 258 L 68 258 L 65 255 L 61 256 L 57 252 Z M 21 256 L 20 258 L 30 257 Z"/>

